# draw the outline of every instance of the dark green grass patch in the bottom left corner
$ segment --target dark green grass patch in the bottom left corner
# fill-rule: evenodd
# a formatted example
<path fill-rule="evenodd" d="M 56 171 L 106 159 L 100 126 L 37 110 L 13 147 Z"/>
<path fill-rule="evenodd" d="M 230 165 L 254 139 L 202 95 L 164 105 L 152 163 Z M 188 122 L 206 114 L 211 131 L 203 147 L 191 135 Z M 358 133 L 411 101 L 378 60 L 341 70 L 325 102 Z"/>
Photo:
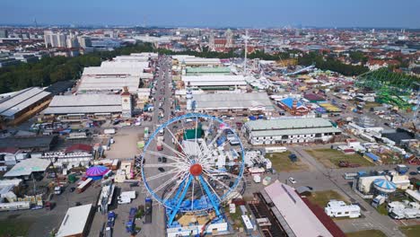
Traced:
<path fill-rule="evenodd" d="M 28 236 L 32 224 L 33 221 L 28 219 L 19 219 L 19 221 L 13 219 L 0 220 L 0 236 Z"/>

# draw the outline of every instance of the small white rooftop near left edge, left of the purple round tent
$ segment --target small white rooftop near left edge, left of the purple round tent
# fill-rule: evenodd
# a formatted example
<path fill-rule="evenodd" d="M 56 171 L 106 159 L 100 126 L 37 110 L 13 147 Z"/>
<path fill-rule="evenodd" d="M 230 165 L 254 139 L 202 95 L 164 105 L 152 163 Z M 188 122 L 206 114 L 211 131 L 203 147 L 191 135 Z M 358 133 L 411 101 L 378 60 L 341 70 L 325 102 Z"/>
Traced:
<path fill-rule="evenodd" d="M 10 171 L 4 173 L 4 177 L 29 176 L 32 172 L 47 170 L 51 161 L 48 159 L 30 158 L 16 163 Z"/>

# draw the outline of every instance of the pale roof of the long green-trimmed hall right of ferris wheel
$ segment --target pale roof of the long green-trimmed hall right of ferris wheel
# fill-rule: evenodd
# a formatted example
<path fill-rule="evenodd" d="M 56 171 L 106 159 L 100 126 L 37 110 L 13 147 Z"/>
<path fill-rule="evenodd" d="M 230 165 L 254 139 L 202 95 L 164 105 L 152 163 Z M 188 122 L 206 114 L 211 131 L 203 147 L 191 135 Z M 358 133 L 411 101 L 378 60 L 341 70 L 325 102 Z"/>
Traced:
<path fill-rule="evenodd" d="M 299 129 L 332 127 L 332 124 L 324 118 L 284 118 L 274 120 L 254 120 L 245 124 L 252 131 L 273 129 Z"/>

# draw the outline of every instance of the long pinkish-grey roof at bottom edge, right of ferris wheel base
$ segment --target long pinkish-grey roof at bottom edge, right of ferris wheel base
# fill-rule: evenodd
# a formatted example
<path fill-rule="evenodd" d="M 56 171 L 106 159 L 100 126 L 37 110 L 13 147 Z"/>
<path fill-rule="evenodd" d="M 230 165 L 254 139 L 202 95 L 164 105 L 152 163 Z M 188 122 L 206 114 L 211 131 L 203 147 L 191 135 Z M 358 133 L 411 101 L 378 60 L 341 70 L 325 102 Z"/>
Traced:
<path fill-rule="evenodd" d="M 333 236 L 292 187 L 276 180 L 264 190 L 297 237 Z"/>

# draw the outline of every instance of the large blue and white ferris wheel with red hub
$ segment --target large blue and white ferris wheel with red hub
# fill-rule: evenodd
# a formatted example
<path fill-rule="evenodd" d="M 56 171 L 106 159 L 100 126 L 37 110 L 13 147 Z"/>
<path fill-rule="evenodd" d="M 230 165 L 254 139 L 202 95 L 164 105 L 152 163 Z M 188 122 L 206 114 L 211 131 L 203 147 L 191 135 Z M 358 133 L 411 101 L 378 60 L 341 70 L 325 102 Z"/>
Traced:
<path fill-rule="evenodd" d="M 166 208 L 170 226 L 178 213 L 214 211 L 237 194 L 244 148 L 220 118 L 188 113 L 154 130 L 137 166 L 144 188 Z"/>

